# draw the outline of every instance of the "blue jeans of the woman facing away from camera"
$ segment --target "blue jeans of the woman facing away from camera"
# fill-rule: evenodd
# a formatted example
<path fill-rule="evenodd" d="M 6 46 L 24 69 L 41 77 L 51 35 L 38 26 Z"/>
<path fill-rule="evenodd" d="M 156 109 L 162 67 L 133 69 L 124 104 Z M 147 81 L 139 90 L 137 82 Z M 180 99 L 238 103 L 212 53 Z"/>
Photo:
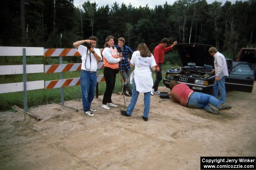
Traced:
<path fill-rule="evenodd" d="M 128 115 L 131 115 L 133 112 L 133 109 L 136 105 L 137 99 L 139 96 L 139 91 L 136 91 L 136 84 L 135 81 L 133 80 L 133 93 L 132 93 L 132 98 L 131 98 L 131 103 L 129 104 L 126 113 Z M 148 117 L 148 113 L 149 113 L 149 108 L 150 108 L 150 91 L 144 93 L 144 111 L 143 111 L 143 116 L 145 118 Z"/>

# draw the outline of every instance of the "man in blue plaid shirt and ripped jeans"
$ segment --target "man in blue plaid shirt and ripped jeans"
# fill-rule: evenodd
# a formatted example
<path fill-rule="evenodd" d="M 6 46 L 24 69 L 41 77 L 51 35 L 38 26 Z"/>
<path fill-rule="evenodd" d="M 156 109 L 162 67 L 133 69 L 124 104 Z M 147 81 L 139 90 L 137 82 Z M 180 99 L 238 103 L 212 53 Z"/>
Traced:
<path fill-rule="evenodd" d="M 123 37 L 118 38 L 118 45 L 114 45 L 114 47 L 117 48 L 117 51 L 119 53 L 123 54 L 123 60 L 121 61 L 121 66 L 119 63 L 119 67 L 121 68 L 122 71 L 122 77 L 123 77 L 123 94 L 126 96 L 132 96 L 132 90 L 131 87 L 129 85 L 128 79 L 129 79 L 129 74 L 130 74 L 130 59 L 128 58 L 128 54 L 130 54 L 130 58 L 132 57 L 133 54 L 133 50 L 130 49 L 130 47 L 124 45 L 125 40 Z M 126 89 L 128 91 L 127 94 L 126 93 Z"/>

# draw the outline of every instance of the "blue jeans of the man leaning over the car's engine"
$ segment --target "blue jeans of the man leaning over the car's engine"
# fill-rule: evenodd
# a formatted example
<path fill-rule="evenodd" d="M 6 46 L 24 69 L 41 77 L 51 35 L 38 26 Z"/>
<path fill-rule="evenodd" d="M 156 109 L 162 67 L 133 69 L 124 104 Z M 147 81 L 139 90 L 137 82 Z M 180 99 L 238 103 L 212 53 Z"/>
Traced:
<path fill-rule="evenodd" d="M 225 103 L 226 100 L 226 90 L 225 90 L 225 77 L 221 78 L 219 81 L 215 81 L 213 84 L 213 93 L 212 95 L 215 98 L 218 98 L 218 92 L 220 90 L 220 101 Z"/>

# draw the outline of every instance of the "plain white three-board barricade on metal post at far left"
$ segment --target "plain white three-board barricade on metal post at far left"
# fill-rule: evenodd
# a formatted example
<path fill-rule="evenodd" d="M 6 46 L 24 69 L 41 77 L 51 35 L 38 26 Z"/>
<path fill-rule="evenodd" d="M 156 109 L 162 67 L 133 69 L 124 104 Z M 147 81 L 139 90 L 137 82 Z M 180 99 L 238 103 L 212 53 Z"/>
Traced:
<path fill-rule="evenodd" d="M 27 112 L 27 90 L 44 88 L 44 81 L 27 82 L 27 73 L 43 73 L 43 64 L 26 65 L 26 56 L 43 56 L 43 47 L 0 47 L 0 56 L 23 56 L 23 65 L 0 66 L 0 75 L 23 74 L 23 82 L 0 84 L 0 93 L 23 91 L 24 111 Z"/>

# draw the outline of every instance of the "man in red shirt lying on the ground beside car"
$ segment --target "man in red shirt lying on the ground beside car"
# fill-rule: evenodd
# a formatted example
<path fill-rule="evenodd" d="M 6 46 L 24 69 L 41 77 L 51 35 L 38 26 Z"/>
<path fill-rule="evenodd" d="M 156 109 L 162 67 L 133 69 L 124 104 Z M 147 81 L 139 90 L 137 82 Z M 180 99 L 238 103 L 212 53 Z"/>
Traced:
<path fill-rule="evenodd" d="M 204 110 L 214 115 L 219 115 L 220 112 L 211 108 L 209 103 L 218 110 L 228 110 L 232 108 L 231 106 L 223 104 L 212 95 L 194 92 L 189 88 L 189 86 L 183 83 L 179 84 L 176 80 L 172 80 L 170 82 L 170 88 L 172 91 L 168 92 L 167 95 L 172 96 L 173 102 L 180 103 L 181 105 L 189 108 L 204 108 Z"/>

